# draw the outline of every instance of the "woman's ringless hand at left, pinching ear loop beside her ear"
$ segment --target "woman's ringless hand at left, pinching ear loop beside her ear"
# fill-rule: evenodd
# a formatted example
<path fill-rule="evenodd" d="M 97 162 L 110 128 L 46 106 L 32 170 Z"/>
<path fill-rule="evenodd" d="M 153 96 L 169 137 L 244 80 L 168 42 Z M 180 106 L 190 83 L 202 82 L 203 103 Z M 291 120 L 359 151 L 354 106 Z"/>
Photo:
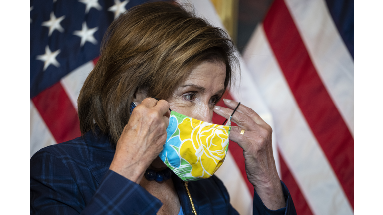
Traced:
<path fill-rule="evenodd" d="M 145 170 L 163 149 L 169 116 L 167 101 L 144 99 L 125 125 L 109 169 L 139 184 Z"/>

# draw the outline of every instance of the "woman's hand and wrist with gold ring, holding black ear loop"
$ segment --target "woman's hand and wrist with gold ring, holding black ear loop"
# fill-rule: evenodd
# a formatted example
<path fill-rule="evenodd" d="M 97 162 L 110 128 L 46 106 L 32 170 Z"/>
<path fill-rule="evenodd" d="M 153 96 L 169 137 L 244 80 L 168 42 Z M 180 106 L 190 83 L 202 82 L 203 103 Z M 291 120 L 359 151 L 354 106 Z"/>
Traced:
<path fill-rule="evenodd" d="M 229 118 L 238 103 L 223 99 L 227 107 L 214 107 L 214 112 Z M 265 206 L 271 210 L 286 207 L 282 185 L 275 166 L 271 142 L 272 129 L 259 115 L 244 105 L 239 105 L 231 118 L 238 126 L 231 126 L 229 139 L 243 149 L 247 178 Z M 245 131 L 241 134 L 242 129 Z"/>

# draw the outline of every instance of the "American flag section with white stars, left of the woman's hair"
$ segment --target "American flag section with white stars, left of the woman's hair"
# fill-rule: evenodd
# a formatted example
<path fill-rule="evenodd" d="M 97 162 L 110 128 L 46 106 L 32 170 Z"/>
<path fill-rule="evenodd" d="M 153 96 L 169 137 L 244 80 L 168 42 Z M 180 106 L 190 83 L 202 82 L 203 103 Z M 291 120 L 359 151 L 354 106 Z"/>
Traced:
<path fill-rule="evenodd" d="M 30 1 L 30 153 L 80 136 L 77 97 L 110 23 L 143 0 Z"/>

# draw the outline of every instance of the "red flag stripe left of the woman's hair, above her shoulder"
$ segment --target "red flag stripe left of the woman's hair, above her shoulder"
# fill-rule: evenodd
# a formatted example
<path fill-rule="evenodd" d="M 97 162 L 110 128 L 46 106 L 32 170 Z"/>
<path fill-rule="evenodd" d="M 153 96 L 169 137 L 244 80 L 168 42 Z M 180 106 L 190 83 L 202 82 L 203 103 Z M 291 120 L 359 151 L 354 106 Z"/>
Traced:
<path fill-rule="evenodd" d="M 81 135 L 76 109 L 60 82 L 39 93 L 32 101 L 57 143 Z"/>

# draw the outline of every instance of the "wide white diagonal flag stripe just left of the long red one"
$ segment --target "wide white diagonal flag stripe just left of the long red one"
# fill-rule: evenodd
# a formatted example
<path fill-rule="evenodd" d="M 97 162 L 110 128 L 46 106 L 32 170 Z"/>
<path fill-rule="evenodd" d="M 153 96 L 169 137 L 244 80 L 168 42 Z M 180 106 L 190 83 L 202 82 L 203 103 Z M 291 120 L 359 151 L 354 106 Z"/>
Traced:
<path fill-rule="evenodd" d="M 244 59 L 269 105 L 281 155 L 315 215 L 352 215 L 351 205 L 288 87 L 260 24 Z"/>

